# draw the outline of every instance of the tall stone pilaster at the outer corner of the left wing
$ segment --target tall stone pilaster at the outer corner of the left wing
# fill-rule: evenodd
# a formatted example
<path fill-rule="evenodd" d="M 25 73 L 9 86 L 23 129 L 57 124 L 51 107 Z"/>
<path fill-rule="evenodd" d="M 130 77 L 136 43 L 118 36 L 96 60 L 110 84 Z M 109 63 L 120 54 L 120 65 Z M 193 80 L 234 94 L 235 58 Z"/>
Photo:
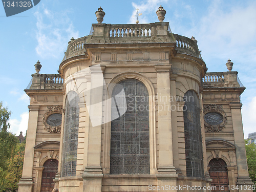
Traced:
<path fill-rule="evenodd" d="M 18 183 L 19 192 L 32 192 L 33 190 L 33 164 L 34 164 L 34 146 L 36 139 L 37 119 L 39 105 L 29 105 L 29 123 L 26 139 L 25 157 L 23 165 L 23 175 Z"/>

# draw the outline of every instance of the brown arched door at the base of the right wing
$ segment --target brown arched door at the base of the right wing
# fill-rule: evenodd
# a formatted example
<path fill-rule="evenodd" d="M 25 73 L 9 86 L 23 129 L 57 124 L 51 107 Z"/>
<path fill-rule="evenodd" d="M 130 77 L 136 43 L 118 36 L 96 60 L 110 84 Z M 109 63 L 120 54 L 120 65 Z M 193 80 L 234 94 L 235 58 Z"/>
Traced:
<path fill-rule="evenodd" d="M 212 159 L 209 162 L 209 167 L 209 175 L 210 178 L 212 179 L 211 186 L 216 186 L 216 188 L 212 188 L 211 191 L 229 191 L 227 165 L 225 161 L 222 159 Z"/>

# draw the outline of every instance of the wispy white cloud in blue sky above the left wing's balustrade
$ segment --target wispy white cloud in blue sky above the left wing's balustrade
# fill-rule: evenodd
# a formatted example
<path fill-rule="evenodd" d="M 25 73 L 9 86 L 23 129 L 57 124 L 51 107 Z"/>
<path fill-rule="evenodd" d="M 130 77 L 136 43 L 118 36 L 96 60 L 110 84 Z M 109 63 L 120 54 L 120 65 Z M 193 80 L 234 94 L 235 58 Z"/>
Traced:
<path fill-rule="evenodd" d="M 78 31 L 74 29 L 68 12 L 52 12 L 42 6 L 34 13 L 36 22 L 36 52 L 43 58 L 59 57 L 67 48 L 71 37 L 78 38 Z"/>

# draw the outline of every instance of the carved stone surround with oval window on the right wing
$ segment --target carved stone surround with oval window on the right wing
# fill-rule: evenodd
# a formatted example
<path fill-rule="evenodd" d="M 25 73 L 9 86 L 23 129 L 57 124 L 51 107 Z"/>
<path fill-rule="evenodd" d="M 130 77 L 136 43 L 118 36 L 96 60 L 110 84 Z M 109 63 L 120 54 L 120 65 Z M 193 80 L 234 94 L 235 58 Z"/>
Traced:
<path fill-rule="evenodd" d="M 227 117 L 222 105 L 204 105 L 204 126 L 207 132 L 222 132 L 226 124 Z"/>

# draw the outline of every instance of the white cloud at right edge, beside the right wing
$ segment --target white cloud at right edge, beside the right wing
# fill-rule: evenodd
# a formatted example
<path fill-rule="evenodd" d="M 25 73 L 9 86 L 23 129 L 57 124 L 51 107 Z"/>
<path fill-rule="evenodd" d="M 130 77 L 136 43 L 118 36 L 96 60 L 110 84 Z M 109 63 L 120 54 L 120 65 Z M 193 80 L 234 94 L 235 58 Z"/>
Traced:
<path fill-rule="evenodd" d="M 249 133 L 256 132 L 255 109 L 256 109 L 256 97 L 253 97 L 251 102 L 243 104 L 242 117 L 243 117 L 243 127 L 244 127 L 245 138 L 248 138 Z"/>

